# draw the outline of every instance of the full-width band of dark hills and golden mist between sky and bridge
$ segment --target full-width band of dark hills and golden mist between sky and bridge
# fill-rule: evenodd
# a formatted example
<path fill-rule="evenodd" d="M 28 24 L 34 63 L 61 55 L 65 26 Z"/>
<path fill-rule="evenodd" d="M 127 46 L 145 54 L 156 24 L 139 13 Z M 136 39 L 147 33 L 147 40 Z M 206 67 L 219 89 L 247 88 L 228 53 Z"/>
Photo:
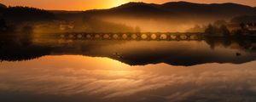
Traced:
<path fill-rule="evenodd" d="M 116 8 L 88 11 L 47 11 L 3 5 L 0 33 L 205 32 L 209 24 L 219 20 L 227 22 L 222 23 L 225 26 L 239 26 L 245 21 L 253 23 L 256 20 L 253 13 L 255 8 L 235 3 L 126 3 Z"/>

